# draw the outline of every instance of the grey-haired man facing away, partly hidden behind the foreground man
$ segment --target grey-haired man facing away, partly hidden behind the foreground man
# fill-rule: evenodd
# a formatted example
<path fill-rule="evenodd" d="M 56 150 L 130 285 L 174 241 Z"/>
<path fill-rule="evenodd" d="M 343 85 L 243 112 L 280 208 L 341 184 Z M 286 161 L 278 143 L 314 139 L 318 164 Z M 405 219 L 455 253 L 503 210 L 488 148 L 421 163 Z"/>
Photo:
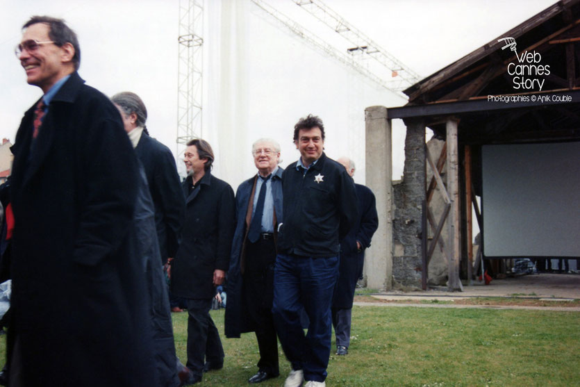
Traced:
<path fill-rule="evenodd" d="M 135 214 L 135 221 L 140 254 L 146 264 L 158 386 L 174 387 L 180 384 L 178 372 L 183 370 L 183 365 L 177 365 L 163 265 L 167 262 L 167 245 L 174 246 L 171 256 L 177 249 L 185 199 L 171 151 L 147 133 L 147 108 L 140 97 L 133 92 L 119 92 L 111 101 L 121 113 L 125 131 L 141 164 L 139 212 Z M 163 250 L 160 249 L 162 241 Z M 183 370 L 182 374 L 186 372 Z"/>

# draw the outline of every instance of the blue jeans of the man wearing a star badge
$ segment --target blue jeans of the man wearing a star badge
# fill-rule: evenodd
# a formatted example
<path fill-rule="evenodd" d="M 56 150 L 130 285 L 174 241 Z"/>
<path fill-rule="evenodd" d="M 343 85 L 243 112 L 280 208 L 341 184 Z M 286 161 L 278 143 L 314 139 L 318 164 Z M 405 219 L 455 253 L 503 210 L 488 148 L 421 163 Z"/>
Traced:
<path fill-rule="evenodd" d="M 331 304 L 338 256 L 312 258 L 279 254 L 274 266 L 274 325 L 293 370 L 307 381 L 324 381 L 332 338 Z M 308 333 L 300 324 L 306 311 Z"/>

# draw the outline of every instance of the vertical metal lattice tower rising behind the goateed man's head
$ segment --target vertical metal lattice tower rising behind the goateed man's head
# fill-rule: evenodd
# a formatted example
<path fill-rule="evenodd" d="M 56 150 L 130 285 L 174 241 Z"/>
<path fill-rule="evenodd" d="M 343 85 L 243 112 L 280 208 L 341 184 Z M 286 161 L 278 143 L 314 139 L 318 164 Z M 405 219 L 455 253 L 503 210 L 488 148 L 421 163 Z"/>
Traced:
<path fill-rule="evenodd" d="M 189 140 L 201 137 L 204 0 L 179 0 L 177 155 Z"/>

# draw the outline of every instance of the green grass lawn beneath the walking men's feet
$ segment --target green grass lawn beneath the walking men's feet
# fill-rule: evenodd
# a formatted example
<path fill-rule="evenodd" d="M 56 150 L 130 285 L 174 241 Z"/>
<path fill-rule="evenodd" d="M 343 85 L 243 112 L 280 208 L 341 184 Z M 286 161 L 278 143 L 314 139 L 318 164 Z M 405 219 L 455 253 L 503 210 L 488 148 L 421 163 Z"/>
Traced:
<path fill-rule="evenodd" d="M 222 334 L 224 310 L 212 316 Z M 185 363 L 187 313 L 173 318 Z M 329 387 L 580 386 L 578 312 L 355 306 L 351 335 L 347 356 L 334 355 L 333 340 Z M 254 334 L 222 341 L 224 368 L 199 386 L 248 386 Z M 281 376 L 261 386 L 283 386 L 290 366 L 281 349 L 280 364 Z"/>

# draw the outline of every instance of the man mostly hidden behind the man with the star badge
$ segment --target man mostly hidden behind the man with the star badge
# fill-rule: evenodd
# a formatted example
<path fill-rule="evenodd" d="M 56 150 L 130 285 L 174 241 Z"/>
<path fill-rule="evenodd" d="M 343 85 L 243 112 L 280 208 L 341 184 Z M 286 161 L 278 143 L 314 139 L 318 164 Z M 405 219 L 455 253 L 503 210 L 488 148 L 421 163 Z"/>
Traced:
<path fill-rule="evenodd" d="M 352 160 L 341 157 L 337 161 L 345 166 L 351 177 L 354 175 Z M 365 249 L 370 247 L 374 231 L 379 227 L 374 194 L 361 184 L 355 184 L 354 188 L 356 189 L 358 217 L 347 236 L 340 241 L 339 277 L 334 288 L 331 308 L 337 355 L 346 355 L 349 352 L 356 281 L 363 272 Z"/>

